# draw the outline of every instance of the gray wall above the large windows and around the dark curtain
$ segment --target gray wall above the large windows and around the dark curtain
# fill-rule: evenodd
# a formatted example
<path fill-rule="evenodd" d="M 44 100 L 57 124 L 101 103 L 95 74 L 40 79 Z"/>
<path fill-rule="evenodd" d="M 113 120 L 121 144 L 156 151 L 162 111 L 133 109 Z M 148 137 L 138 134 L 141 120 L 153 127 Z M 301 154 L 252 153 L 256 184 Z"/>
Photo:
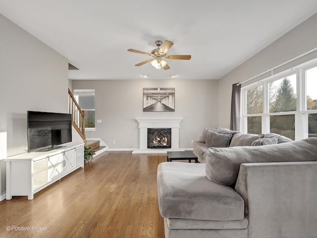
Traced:
<path fill-rule="evenodd" d="M 232 84 L 243 82 L 267 69 L 317 48 L 317 14 L 264 48 L 219 80 L 219 126 L 230 127 Z"/>

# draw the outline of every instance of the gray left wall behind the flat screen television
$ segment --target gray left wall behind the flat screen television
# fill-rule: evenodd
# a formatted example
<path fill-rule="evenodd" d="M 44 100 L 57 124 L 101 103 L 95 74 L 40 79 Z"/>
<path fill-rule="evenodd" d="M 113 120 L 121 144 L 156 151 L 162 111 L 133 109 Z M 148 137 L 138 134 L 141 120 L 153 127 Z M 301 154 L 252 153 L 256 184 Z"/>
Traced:
<path fill-rule="evenodd" d="M 0 32 L 0 132 L 10 156 L 27 148 L 28 110 L 67 113 L 68 60 L 2 15 Z M 1 170 L 3 194 L 3 161 Z"/>

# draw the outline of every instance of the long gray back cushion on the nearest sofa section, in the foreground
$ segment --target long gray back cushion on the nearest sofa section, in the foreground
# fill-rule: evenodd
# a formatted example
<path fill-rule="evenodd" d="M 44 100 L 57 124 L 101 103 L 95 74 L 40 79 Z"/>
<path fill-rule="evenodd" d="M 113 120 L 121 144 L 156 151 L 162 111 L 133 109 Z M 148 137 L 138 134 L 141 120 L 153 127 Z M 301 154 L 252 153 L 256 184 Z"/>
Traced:
<path fill-rule="evenodd" d="M 317 138 L 266 146 L 211 148 L 206 175 L 211 181 L 234 185 L 242 163 L 317 161 Z"/>

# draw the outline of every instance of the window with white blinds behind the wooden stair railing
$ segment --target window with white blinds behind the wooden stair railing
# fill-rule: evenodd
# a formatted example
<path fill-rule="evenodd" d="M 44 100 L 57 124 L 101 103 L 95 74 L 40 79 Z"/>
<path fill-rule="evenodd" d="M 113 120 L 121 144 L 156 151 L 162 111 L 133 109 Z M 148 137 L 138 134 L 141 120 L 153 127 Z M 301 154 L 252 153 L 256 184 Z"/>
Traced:
<path fill-rule="evenodd" d="M 74 89 L 74 97 L 86 113 L 85 128 L 95 128 L 95 89 Z"/>

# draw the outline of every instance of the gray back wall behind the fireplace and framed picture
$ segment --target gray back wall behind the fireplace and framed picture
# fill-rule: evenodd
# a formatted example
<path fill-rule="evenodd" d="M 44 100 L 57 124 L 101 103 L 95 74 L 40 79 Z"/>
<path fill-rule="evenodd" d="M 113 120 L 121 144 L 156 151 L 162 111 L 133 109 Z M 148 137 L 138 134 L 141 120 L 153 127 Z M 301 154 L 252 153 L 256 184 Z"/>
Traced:
<path fill-rule="evenodd" d="M 175 88 L 175 112 L 143 112 L 147 87 Z M 86 135 L 110 149 L 139 148 L 138 117 L 183 117 L 181 148 L 192 148 L 204 128 L 218 125 L 218 80 L 72 80 L 72 88 L 95 89 L 96 119 L 102 123 Z"/>

